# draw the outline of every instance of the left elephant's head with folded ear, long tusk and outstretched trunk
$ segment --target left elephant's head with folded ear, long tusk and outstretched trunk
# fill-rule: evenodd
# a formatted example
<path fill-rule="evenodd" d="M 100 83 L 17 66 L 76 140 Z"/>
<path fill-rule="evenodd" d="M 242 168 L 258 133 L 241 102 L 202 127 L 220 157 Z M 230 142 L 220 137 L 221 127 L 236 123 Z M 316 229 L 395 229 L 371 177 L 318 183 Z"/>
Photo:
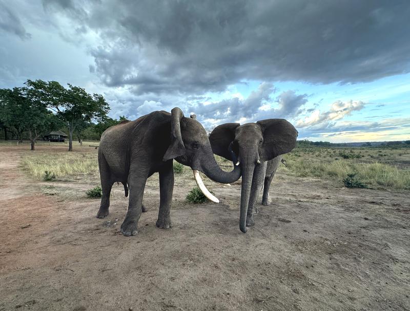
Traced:
<path fill-rule="evenodd" d="M 219 200 L 203 185 L 198 171 L 221 184 L 233 183 L 240 177 L 239 167 L 235 167 L 231 172 L 223 171 L 219 167 L 215 161 L 206 130 L 196 120 L 195 115 L 186 118 L 178 107 L 171 110 L 171 142 L 162 160 L 170 159 L 190 166 L 194 171 L 198 187 L 204 195 L 216 203 Z"/>

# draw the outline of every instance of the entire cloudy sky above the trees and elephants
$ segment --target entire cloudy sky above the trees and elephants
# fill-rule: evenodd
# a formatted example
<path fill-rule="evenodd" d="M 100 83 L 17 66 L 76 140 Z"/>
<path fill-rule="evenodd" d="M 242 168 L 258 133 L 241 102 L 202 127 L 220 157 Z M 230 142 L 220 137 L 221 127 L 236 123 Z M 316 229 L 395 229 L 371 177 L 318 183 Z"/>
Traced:
<path fill-rule="evenodd" d="M 206 128 L 284 118 L 298 139 L 410 139 L 407 0 L 0 0 L 0 88 L 180 107 Z"/>

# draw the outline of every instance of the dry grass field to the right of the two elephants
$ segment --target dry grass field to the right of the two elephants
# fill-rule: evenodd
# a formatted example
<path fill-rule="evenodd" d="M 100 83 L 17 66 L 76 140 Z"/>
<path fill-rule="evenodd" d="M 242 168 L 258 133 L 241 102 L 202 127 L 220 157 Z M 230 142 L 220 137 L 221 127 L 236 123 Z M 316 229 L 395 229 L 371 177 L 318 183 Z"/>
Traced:
<path fill-rule="evenodd" d="M 356 173 L 357 178 L 367 186 L 410 190 L 410 170 L 401 165 L 408 161 L 408 149 L 340 149 L 295 149 L 285 156 L 288 167 L 281 170 L 296 176 L 336 179 L 340 182 L 347 174 Z M 353 156 L 342 159 L 340 154 Z M 384 158 L 384 161 L 377 157 Z"/>

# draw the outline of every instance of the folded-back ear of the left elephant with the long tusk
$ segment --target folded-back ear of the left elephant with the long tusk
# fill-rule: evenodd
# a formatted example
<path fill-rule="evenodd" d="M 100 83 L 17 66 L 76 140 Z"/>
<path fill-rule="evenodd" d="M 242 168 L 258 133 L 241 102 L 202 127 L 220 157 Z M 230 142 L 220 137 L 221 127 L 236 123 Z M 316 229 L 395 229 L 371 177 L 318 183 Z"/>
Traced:
<path fill-rule="evenodd" d="M 175 107 L 171 110 L 171 144 L 165 152 L 162 161 L 168 161 L 185 154 L 181 135 L 181 120 L 183 118 L 182 110 Z"/>

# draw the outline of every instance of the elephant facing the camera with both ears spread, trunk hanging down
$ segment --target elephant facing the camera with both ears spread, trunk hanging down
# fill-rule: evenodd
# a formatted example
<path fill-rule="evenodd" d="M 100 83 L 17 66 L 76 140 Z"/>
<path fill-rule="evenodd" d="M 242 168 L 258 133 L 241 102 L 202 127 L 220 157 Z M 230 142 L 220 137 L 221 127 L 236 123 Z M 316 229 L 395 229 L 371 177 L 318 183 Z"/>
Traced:
<path fill-rule="evenodd" d="M 241 167 L 239 228 L 242 232 L 247 232 L 247 227 L 255 224 L 254 205 L 263 182 L 270 185 L 271 177 L 281 161 L 280 155 L 296 146 L 297 135 L 296 128 L 284 119 L 267 119 L 243 125 L 226 123 L 211 132 L 209 140 L 213 152 L 229 160 L 234 154 L 237 158 L 235 166 L 240 164 Z"/>

